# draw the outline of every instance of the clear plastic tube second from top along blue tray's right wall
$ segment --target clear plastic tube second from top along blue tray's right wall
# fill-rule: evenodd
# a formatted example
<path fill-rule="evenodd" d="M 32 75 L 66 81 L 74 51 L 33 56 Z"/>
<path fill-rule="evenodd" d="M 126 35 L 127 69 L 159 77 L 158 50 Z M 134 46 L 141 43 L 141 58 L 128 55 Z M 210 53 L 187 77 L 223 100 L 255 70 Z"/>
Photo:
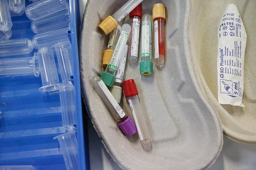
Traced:
<path fill-rule="evenodd" d="M 44 17 L 31 22 L 31 29 L 34 33 L 44 33 L 64 27 L 70 23 L 69 10 L 60 11 L 56 14 Z"/>

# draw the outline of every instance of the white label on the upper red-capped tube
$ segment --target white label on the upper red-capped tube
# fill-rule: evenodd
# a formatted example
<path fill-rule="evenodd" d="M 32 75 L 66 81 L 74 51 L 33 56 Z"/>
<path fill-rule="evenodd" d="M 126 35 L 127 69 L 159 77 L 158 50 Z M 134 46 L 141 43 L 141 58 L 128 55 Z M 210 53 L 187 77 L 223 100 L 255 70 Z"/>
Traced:
<path fill-rule="evenodd" d="M 139 51 L 139 37 L 140 37 L 140 20 L 132 19 L 132 42 L 131 42 L 131 56 L 138 57 Z"/>

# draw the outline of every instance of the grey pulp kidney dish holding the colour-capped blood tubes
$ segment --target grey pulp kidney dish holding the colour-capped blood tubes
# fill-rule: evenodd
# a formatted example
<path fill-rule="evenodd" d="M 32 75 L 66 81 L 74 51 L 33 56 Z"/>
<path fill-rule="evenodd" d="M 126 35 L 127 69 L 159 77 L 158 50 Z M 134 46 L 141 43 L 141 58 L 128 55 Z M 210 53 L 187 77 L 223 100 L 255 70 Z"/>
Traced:
<path fill-rule="evenodd" d="M 195 50 L 197 46 L 190 49 L 192 39 L 189 41 L 188 38 L 190 35 L 188 31 L 191 31 L 188 29 L 188 21 L 192 17 L 190 16 L 190 12 L 193 10 L 191 5 L 196 3 L 198 8 L 201 8 L 201 4 L 206 5 L 209 2 L 202 0 L 200 4 L 197 1 L 192 3 L 190 0 L 161 1 L 166 10 L 169 9 L 166 11 L 165 20 L 165 54 L 168 55 L 165 62 L 166 66 L 164 69 L 158 69 L 156 64 L 153 64 L 154 75 L 142 76 L 138 63 L 126 64 L 125 79 L 134 79 L 136 82 L 140 106 L 152 143 L 151 150 L 144 150 L 138 135 L 129 138 L 124 137 L 114 123 L 104 101 L 92 85 L 88 84 L 90 79 L 97 74 L 99 75 L 102 70 L 102 55 L 99 54 L 106 50 L 108 43 L 108 37 L 103 37 L 102 31 L 97 29 L 98 23 L 102 21 L 102 18 L 116 12 L 126 2 L 126 0 L 93 0 L 88 3 L 84 15 L 83 23 L 90 24 L 82 25 L 80 35 L 80 68 L 82 68 L 80 75 L 83 96 L 86 99 L 85 102 L 92 123 L 102 138 L 108 153 L 123 169 L 205 169 L 216 160 L 222 149 L 222 126 L 218 113 L 206 101 L 195 78 L 194 68 L 191 64 L 193 62 L 191 50 Z M 156 3 L 159 1 L 143 1 L 144 14 L 152 15 L 152 8 Z M 108 9 L 108 11 L 101 9 Z M 207 9 L 211 9 L 210 5 Z M 215 10 L 215 14 L 221 18 L 220 9 L 215 8 Z M 194 15 L 197 13 L 195 12 Z M 200 14 L 198 18 L 202 16 L 204 15 Z M 98 22 L 91 22 L 92 17 Z M 198 18 L 193 20 L 193 24 L 199 22 Z M 209 18 L 210 16 L 207 19 Z M 220 18 L 212 24 L 216 25 L 216 28 Z M 124 18 L 124 22 L 130 23 L 130 18 L 127 16 Z M 201 23 L 201 25 L 203 24 Z M 200 33 L 198 30 L 200 29 L 198 28 L 197 32 L 193 32 L 193 35 Z M 216 29 L 214 36 L 209 39 L 209 42 L 218 41 L 217 31 L 218 29 Z M 205 38 L 202 39 L 205 41 Z M 153 41 L 152 49 L 154 49 Z M 130 39 L 128 44 L 130 44 Z M 211 55 L 215 63 L 216 47 L 217 43 L 215 47 L 212 47 L 215 52 Z M 210 47 L 208 48 L 210 49 Z M 213 65 L 214 74 L 217 74 L 216 64 Z M 216 82 L 214 84 L 216 88 Z M 126 114 L 132 117 L 129 103 L 123 99 L 121 104 Z M 122 145 L 119 145 L 120 143 Z"/>

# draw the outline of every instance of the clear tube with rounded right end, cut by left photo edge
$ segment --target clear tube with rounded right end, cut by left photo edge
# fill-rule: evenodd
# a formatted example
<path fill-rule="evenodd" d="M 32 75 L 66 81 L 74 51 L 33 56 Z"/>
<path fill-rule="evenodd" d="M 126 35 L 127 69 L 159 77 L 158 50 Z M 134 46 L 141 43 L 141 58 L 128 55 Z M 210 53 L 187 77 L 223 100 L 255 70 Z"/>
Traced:
<path fill-rule="evenodd" d="M 33 45 L 30 39 L 9 39 L 0 41 L 0 57 L 31 53 Z"/>

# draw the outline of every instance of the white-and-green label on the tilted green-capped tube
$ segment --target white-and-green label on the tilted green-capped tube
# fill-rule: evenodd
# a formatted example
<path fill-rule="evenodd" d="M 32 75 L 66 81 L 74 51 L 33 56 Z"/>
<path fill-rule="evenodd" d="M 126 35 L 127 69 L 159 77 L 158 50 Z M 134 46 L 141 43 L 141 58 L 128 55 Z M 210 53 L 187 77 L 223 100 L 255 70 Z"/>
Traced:
<path fill-rule="evenodd" d="M 122 56 L 123 49 L 126 45 L 127 39 L 129 37 L 129 33 L 126 31 L 122 31 L 116 43 L 116 47 L 114 49 L 114 53 L 110 59 L 110 63 L 108 64 L 108 68 L 112 70 L 117 70 L 120 57 Z"/>

